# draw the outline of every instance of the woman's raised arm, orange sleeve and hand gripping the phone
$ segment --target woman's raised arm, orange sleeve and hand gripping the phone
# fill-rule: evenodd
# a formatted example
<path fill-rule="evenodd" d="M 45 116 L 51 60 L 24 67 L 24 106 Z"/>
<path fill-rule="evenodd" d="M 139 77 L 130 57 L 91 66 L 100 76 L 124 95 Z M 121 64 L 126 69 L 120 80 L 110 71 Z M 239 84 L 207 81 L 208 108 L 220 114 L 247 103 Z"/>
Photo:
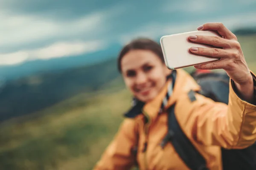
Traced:
<path fill-rule="evenodd" d="M 182 115 L 177 115 L 185 132 L 205 145 L 225 148 L 244 148 L 256 141 L 256 77 L 245 62 L 236 36 L 221 23 L 206 23 L 198 30 L 215 30 L 222 36 L 192 36 L 193 42 L 220 48 L 191 48 L 191 52 L 219 57 L 217 62 L 199 66 L 199 69 L 224 69 L 230 77 L 229 104 L 213 102 L 197 95 L 189 111 L 177 104 Z M 185 97 L 183 102 L 186 102 Z M 180 105 L 180 107 L 179 107 Z M 181 117 L 182 116 L 182 117 Z"/>

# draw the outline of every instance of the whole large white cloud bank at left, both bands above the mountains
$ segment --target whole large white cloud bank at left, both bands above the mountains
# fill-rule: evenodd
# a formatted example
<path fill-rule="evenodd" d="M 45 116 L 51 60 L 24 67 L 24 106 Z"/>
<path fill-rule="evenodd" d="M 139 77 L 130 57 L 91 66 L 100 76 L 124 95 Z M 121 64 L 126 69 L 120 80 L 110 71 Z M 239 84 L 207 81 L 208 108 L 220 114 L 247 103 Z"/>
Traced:
<path fill-rule="evenodd" d="M 124 8 L 124 4 L 117 4 L 75 20 L 54 20 L 3 10 L 0 13 L 0 65 L 69 57 L 106 48 L 107 41 L 100 35 L 109 31 L 108 21 Z M 28 48 L 24 49 L 24 45 Z"/>

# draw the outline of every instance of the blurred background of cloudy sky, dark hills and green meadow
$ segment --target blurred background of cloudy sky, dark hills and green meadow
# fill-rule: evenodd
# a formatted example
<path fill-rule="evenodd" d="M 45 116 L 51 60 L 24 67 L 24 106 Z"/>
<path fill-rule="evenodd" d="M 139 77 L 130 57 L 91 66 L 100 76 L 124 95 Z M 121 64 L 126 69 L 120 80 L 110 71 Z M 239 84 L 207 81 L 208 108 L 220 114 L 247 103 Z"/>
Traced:
<path fill-rule="evenodd" d="M 0 0 L 0 170 L 92 169 L 131 105 L 122 45 L 207 22 L 256 72 L 256 0 Z"/>

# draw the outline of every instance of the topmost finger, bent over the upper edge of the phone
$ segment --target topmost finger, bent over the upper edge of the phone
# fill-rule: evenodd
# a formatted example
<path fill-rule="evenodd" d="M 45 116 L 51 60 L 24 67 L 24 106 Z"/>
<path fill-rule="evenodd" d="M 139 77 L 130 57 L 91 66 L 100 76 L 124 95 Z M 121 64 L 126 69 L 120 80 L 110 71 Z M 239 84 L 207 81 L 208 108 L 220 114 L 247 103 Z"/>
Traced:
<path fill-rule="evenodd" d="M 199 26 L 198 30 L 215 30 L 225 39 L 236 39 L 236 36 L 222 23 L 205 23 L 204 25 Z"/>

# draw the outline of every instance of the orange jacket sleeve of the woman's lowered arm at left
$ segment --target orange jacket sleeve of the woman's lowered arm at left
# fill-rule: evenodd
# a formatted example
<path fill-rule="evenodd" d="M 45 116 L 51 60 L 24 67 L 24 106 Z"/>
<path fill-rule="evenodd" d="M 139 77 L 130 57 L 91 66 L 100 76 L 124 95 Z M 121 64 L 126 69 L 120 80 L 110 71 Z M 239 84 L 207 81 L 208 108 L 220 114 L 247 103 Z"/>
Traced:
<path fill-rule="evenodd" d="M 131 153 L 136 142 L 134 119 L 125 119 L 113 141 L 108 145 L 94 170 L 129 170 L 134 165 Z"/>

